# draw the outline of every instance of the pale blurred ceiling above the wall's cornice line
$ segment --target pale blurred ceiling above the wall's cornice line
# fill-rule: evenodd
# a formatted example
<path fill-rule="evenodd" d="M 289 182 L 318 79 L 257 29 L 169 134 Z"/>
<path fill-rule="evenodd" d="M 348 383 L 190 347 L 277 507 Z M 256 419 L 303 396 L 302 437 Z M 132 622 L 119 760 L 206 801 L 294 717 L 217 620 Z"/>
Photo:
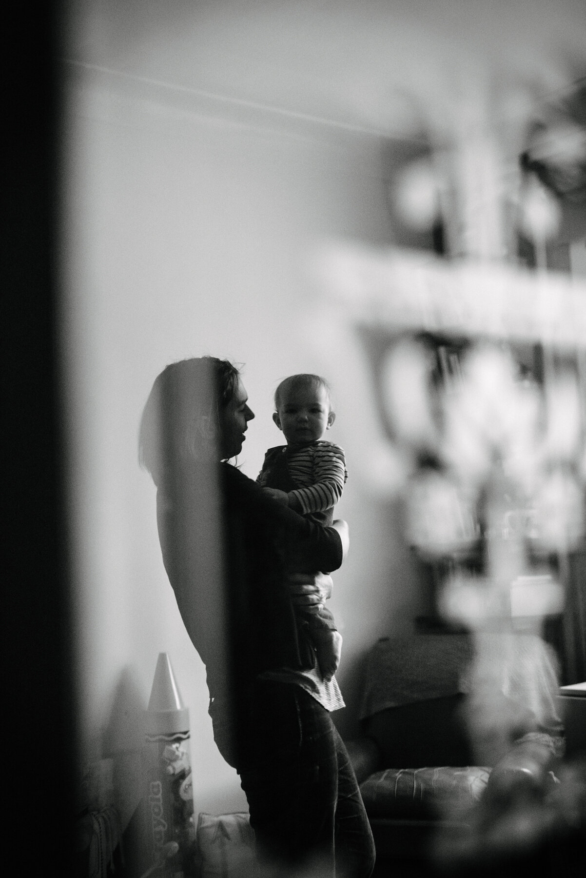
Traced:
<path fill-rule="evenodd" d="M 422 123 L 441 132 L 454 102 L 487 82 L 526 112 L 527 101 L 586 75 L 583 0 L 72 0 L 69 9 L 70 60 L 390 136 Z"/>

